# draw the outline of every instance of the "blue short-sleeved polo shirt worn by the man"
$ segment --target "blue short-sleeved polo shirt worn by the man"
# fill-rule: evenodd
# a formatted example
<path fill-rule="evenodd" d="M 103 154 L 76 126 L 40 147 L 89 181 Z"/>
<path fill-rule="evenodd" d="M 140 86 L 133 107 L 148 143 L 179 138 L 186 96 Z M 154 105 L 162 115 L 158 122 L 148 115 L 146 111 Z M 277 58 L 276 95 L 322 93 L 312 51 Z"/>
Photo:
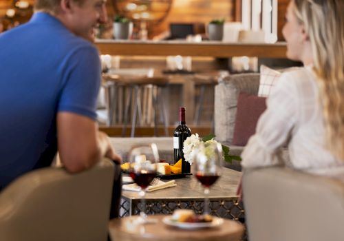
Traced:
<path fill-rule="evenodd" d="M 0 190 L 56 154 L 56 113 L 96 118 L 98 50 L 50 14 L 0 34 Z"/>

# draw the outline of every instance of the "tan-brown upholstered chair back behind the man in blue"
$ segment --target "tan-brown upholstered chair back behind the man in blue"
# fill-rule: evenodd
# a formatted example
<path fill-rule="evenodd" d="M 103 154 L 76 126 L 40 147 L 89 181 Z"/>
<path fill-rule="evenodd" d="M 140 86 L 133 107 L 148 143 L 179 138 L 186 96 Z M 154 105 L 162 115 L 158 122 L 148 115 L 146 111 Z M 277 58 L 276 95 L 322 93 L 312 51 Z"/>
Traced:
<path fill-rule="evenodd" d="M 0 240 L 106 240 L 114 174 L 103 159 L 79 174 L 47 167 L 14 180 L 0 193 Z"/>

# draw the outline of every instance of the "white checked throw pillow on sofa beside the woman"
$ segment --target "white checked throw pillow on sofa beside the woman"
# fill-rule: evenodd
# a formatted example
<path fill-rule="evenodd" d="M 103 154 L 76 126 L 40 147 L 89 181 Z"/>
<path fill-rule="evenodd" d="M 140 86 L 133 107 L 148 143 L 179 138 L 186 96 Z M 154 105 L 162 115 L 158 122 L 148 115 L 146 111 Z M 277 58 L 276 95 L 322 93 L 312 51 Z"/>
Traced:
<path fill-rule="evenodd" d="M 271 90 L 276 85 L 279 76 L 281 76 L 281 72 L 272 70 L 270 67 L 266 67 L 265 65 L 261 65 L 258 96 L 268 97 Z"/>

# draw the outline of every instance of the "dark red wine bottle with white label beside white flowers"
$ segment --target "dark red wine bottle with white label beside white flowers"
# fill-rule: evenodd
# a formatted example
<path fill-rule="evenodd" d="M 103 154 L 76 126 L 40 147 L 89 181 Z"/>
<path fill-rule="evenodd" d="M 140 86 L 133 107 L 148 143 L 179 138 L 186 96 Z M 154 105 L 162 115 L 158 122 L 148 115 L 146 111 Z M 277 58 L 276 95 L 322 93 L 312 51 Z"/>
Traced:
<path fill-rule="evenodd" d="M 173 133 L 174 162 L 177 163 L 182 158 L 182 173 L 190 172 L 190 164 L 185 161 L 183 146 L 184 140 L 191 136 L 191 129 L 185 123 L 185 108 L 179 108 L 179 125 Z"/>

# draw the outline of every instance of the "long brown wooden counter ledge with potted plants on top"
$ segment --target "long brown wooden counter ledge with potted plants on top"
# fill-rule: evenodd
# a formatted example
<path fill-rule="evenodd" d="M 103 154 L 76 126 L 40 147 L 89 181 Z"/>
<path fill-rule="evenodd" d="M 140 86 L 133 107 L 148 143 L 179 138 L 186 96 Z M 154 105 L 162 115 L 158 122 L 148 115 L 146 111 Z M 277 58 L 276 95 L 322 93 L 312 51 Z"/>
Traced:
<path fill-rule="evenodd" d="M 96 40 L 101 54 L 131 56 L 257 56 L 259 58 L 286 58 L 286 43 L 224 43 L 203 41 L 120 41 Z"/>

